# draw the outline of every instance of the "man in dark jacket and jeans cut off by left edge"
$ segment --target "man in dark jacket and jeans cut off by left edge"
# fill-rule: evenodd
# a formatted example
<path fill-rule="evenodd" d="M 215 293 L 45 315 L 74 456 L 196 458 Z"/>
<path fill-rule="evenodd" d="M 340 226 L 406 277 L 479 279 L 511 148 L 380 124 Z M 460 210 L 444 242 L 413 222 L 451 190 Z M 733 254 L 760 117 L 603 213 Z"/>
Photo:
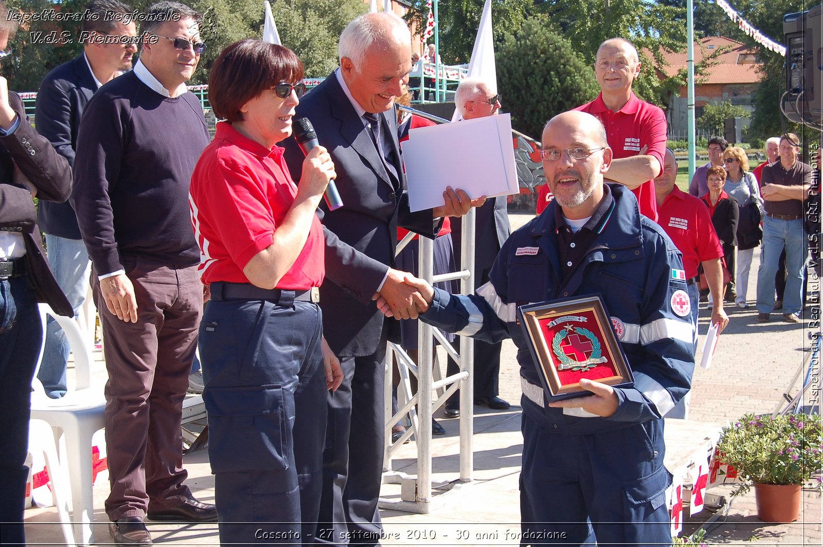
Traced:
<path fill-rule="evenodd" d="M 9 13 L 0 0 L 0 13 Z M 0 58 L 16 21 L 0 17 Z M 0 537 L 3 544 L 26 545 L 26 447 L 29 437 L 31 380 L 35 375 L 43 327 L 37 303 L 71 315 L 63 291 L 49 271 L 40 244 L 32 197 L 65 202 L 72 172 L 65 158 L 31 127 L 23 103 L 0 76 Z"/>

